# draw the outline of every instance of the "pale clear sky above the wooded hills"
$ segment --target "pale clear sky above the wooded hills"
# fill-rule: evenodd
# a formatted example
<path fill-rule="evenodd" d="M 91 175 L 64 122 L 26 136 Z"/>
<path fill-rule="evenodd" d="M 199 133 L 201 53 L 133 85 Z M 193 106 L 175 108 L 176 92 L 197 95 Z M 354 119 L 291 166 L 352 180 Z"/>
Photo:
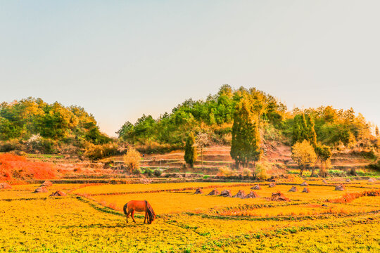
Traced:
<path fill-rule="evenodd" d="M 222 84 L 380 125 L 380 1 L 0 0 L 0 101 L 80 105 L 111 136 Z"/>

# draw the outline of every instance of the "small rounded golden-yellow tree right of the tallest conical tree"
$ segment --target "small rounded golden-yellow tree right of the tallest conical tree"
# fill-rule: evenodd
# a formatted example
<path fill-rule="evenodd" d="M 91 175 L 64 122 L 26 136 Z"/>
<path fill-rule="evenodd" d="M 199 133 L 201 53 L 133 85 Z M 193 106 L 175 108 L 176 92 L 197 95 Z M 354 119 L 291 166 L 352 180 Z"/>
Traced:
<path fill-rule="evenodd" d="M 303 142 L 297 142 L 293 145 L 291 150 L 291 159 L 297 162 L 300 169 L 300 176 L 303 174 L 303 170 L 307 167 L 314 166 L 317 155 L 315 150 L 306 140 Z"/>

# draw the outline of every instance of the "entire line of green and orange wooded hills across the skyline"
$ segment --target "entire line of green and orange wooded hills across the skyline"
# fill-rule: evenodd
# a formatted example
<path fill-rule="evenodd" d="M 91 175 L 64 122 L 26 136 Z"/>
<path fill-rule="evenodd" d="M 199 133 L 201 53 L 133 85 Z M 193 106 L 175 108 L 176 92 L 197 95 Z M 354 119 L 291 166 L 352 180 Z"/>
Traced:
<path fill-rule="evenodd" d="M 322 106 L 289 111 L 263 91 L 224 84 L 217 94 L 205 100 L 190 98 L 158 119 L 143 115 L 134 124 L 125 122 L 117 131 L 118 139 L 101 133 L 94 117 L 78 106 L 49 104 L 40 98 L 4 102 L 0 105 L 0 152 L 76 153 L 92 159 L 125 152 L 126 145 L 135 145 L 143 153 L 167 152 L 184 148 L 190 133 L 204 133 L 211 143 L 230 145 L 236 108 L 242 100 L 258 122 L 261 141 L 292 145 L 294 128 L 301 126 L 297 117 L 305 115 L 314 124 L 319 143 L 349 148 L 377 145 L 372 126 L 352 109 Z"/>

